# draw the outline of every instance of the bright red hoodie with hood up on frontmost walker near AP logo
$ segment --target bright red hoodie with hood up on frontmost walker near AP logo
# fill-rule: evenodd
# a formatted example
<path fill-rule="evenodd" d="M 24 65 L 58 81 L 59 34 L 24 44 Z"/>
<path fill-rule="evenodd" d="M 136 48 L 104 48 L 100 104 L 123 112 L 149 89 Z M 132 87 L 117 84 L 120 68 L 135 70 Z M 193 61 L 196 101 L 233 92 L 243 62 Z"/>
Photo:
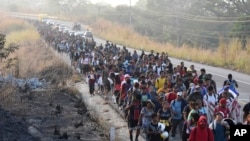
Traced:
<path fill-rule="evenodd" d="M 188 141 L 214 141 L 213 132 L 208 128 L 205 116 L 199 118 L 198 125 L 192 129 Z"/>

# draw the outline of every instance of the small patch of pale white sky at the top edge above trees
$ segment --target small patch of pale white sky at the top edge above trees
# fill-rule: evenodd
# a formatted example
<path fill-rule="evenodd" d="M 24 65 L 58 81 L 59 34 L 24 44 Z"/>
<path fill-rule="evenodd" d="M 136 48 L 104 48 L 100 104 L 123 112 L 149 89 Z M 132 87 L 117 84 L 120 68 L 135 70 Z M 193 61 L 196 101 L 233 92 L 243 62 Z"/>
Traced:
<path fill-rule="evenodd" d="M 129 5 L 130 0 L 90 0 L 92 3 L 107 3 L 112 6 L 117 6 L 121 4 Z M 135 5 L 138 0 L 131 0 L 131 5 Z"/>

